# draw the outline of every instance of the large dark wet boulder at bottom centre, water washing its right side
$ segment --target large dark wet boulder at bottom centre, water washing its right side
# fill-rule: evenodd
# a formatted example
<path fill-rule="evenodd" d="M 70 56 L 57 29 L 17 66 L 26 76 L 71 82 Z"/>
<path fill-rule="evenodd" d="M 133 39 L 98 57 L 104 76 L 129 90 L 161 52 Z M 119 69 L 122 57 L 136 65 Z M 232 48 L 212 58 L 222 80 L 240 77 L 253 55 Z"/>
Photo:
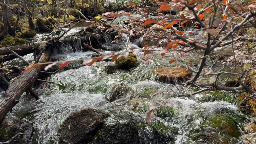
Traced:
<path fill-rule="evenodd" d="M 140 117 L 141 118 L 141 117 Z M 60 139 L 68 144 L 140 144 L 134 113 L 88 108 L 71 114 L 60 126 Z"/>

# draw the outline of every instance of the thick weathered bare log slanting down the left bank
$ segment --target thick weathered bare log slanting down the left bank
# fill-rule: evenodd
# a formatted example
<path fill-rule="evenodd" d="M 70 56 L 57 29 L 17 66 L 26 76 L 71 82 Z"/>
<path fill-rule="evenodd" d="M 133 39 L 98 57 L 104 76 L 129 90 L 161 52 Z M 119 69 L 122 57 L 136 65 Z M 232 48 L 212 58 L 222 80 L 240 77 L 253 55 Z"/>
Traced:
<path fill-rule="evenodd" d="M 45 45 L 42 45 L 42 47 Z M 51 50 L 46 49 L 39 62 L 47 62 L 49 56 L 51 55 Z M 14 82 L 10 83 L 9 88 L 0 97 L 0 122 L 6 116 L 6 114 L 19 102 L 21 95 L 27 90 L 30 89 L 34 82 L 37 80 L 37 77 L 40 71 L 45 67 L 45 65 L 39 65 L 38 67 L 32 68 L 31 70 L 22 73 L 20 77 Z"/>

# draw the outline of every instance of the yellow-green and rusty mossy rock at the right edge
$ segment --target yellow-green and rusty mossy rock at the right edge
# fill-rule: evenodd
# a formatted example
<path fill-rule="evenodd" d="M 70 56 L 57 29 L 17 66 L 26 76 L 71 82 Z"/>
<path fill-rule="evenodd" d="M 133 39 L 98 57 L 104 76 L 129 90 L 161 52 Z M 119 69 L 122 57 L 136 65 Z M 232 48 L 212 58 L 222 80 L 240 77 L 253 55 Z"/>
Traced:
<path fill-rule="evenodd" d="M 237 98 L 237 104 L 240 104 L 243 99 L 248 96 L 251 95 L 250 93 L 246 93 L 243 92 L 242 94 L 240 94 Z M 250 105 L 250 104 L 254 104 L 256 102 L 255 99 L 251 99 L 251 98 L 247 98 L 242 104 L 241 106 L 246 106 L 246 105 Z M 240 107 L 241 111 L 245 114 L 254 114 L 256 113 L 256 105 L 252 105 L 250 107 Z"/>

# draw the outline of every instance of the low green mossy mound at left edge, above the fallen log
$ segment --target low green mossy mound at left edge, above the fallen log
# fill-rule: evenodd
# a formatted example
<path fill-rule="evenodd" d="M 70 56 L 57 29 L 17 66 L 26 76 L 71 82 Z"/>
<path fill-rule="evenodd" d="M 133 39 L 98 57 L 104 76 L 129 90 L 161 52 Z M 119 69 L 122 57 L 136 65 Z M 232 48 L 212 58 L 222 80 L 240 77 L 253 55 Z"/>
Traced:
<path fill-rule="evenodd" d="M 15 42 L 15 43 L 14 43 Z M 18 38 L 18 37 L 12 37 L 12 36 L 6 36 L 4 37 L 3 40 L 1 40 L 0 42 L 0 45 L 2 47 L 6 47 L 6 46 L 9 46 L 9 45 L 12 45 L 12 46 L 18 46 L 18 45 L 24 45 L 24 44 L 27 44 L 28 41 L 25 40 L 25 39 L 22 39 L 22 38 Z"/>

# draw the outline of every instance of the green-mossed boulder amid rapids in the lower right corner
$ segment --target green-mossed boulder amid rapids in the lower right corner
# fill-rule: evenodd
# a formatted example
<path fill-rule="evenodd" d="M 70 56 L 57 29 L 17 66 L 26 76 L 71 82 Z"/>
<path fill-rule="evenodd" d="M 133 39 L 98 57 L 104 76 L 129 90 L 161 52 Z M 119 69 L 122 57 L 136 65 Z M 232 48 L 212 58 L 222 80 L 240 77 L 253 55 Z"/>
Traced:
<path fill-rule="evenodd" d="M 217 114 L 205 120 L 201 130 L 191 134 L 185 144 L 235 144 L 241 136 L 237 120 L 228 114 Z"/>

